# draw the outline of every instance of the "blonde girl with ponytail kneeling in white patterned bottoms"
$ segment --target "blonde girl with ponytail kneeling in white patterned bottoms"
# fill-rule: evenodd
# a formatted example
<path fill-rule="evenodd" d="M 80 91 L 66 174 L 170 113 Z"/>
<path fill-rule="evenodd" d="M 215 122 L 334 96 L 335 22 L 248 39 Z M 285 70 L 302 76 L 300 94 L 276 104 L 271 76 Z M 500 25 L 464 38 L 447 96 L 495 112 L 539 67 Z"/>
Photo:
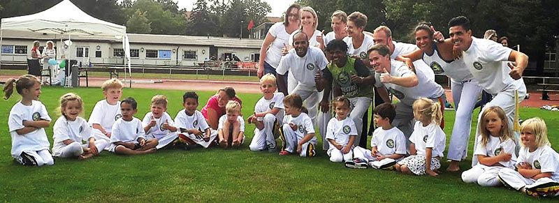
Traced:
<path fill-rule="evenodd" d="M 419 98 L 412 106 L 414 118 L 414 132 L 409 137 L 407 158 L 396 164 L 396 170 L 404 174 L 438 176 L 435 170 L 441 167 L 440 159 L 447 142 L 447 135 L 440 128 L 442 112 L 440 103 L 428 98 Z"/>

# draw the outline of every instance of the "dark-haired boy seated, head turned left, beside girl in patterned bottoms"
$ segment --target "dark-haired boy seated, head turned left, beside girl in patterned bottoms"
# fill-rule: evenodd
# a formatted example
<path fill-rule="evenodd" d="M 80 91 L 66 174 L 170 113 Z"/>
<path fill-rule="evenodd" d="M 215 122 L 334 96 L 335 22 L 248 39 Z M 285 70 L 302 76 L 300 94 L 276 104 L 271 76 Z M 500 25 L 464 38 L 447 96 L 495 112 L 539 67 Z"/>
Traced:
<path fill-rule="evenodd" d="M 406 138 L 402 131 L 391 125 L 396 116 L 395 105 L 383 103 L 375 107 L 373 121 L 378 128 L 372 133 L 371 149 L 356 146 L 354 160 L 345 163 L 350 168 L 366 168 L 392 170 L 398 160 L 406 155 Z"/>

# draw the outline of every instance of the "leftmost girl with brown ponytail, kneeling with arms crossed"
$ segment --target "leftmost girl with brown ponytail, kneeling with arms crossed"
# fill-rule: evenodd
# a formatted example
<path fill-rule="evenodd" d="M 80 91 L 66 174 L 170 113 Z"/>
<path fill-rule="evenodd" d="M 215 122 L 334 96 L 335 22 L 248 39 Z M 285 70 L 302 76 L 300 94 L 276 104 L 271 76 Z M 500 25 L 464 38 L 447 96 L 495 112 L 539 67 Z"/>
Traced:
<path fill-rule="evenodd" d="M 41 96 L 41 80 L 33 75 L 10 78 L 4 84 L 4 99 L 8 100 L 13 89 L 22 96 L 22 100 L 13 105 L 8 116 L 8 128 L 12 137 L 12 157 L 22 165 L 53 165 L 55 160 L 48 151 L 45 128 L 50 125 L 50 116 Z"/>

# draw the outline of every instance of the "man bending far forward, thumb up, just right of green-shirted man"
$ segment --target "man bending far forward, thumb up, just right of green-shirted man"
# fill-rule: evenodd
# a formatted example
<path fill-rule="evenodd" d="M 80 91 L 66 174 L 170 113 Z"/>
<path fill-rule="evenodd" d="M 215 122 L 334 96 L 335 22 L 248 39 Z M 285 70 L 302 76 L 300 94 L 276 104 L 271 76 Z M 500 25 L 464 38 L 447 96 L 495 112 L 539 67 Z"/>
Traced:
<path fill-rule="evenodd" d="M 429 80 L 421 71 L 412 72 L 401 61 L 390 59 L 390 50 L 386 45 L 375 45 L 368 50 L 372 68 L 375 68 L 375 87 L 386 87 L 393 96 L 400 100 L 396 104 L 396 116 L 392 125 L 404 133 L 409 146 L 409 136 L 414 126 L 412 105 L 419 98 L 430 98 L 441 102 L 444 89 L 433 80 Z M 388 100 L 388 98 L 384 98 Z M 409 148 L 407 148 L 409 149 Z"/>

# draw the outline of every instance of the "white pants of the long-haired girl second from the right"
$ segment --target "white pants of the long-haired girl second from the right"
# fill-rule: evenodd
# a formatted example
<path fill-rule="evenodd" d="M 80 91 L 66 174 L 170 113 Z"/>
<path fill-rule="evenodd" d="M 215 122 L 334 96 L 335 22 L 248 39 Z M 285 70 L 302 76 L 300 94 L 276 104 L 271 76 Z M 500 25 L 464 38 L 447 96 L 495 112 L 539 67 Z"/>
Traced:
<path fill-rule="evenodd" d="M 505 167 L 475 165 L 470 170 L 462 172 L 462 181 L 465 183 L 478 183 L 480 186 L 500 186 L 498 179 L 500 170 Z"/>

